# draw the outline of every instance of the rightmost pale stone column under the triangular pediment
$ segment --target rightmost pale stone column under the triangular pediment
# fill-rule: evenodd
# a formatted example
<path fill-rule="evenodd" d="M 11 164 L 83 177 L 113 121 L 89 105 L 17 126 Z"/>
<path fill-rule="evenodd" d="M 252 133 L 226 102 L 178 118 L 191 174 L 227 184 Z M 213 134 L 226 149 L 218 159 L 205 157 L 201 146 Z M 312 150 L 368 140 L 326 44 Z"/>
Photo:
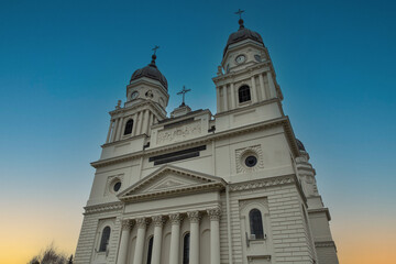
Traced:
<path fill-rule="evenodd" d="M 210 264 L 220 264 L 220 208 L 207 210 L 210 218 Z"/>

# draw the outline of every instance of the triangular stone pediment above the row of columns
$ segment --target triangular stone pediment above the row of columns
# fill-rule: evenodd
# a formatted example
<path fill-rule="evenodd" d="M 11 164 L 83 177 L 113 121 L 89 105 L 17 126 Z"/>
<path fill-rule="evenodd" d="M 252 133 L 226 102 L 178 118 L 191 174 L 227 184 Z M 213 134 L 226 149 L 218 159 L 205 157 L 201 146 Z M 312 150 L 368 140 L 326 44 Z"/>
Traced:
<path fill-rule="evenodd" d="M 164 196 L 217 190 L 224 186 L 226 182 L 222 178 L 164 165 L 123 190 L 118 197 L 123 201 L 156 199 Z"/>

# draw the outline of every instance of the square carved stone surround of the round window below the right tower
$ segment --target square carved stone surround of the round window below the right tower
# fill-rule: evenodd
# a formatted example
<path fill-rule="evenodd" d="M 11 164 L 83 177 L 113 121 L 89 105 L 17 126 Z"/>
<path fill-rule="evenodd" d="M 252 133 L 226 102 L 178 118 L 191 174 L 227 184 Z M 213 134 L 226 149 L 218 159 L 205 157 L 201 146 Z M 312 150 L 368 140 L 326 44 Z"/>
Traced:
<path fill-rule="evenodd" d="M 248 156 L 255 156 L 257 158 L 257 164 L 252 167 L 246 166 L 245 158 Z M 235 150 L 235 164 L 237 164 L 237 173 L 239 174 L 252 173 L 264 168 L 263 151 L 261 148 L 261 145 L 248 146 Z"/>

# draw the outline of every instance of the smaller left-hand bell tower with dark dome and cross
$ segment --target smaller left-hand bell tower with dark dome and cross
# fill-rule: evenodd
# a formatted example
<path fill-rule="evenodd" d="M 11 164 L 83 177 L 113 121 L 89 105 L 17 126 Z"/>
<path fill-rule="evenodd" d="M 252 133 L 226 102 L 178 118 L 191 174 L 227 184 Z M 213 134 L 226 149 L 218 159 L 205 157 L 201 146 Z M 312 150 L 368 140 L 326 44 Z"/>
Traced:
<path fill-rule="evenodd" d="M 132 136 L 148 136 L 151 125 L 166 118 L 168 85 L 155 64 L 157 48 L 158 46 L 153 48 L 151 63 L 133 73 L 127 86 L 124 107 L 121 107 L 119 101 L 116 110 L 110 112 L 111 120 L 106 143 Z"/>

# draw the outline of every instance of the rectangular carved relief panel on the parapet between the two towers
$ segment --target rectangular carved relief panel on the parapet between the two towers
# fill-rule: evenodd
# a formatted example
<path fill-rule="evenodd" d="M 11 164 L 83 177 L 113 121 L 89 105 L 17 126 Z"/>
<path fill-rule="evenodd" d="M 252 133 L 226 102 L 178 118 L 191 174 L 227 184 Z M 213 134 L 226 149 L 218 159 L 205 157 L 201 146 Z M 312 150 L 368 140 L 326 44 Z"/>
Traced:
<path fill-rule="evenodd" d="M 185 141 L 193 139 L 196 135 L 201 133 L 200 121 L 195 121 L 194 123 L 162 130 L 157 133 L 157 144 L 174 143 L 179 141 Z"/>

